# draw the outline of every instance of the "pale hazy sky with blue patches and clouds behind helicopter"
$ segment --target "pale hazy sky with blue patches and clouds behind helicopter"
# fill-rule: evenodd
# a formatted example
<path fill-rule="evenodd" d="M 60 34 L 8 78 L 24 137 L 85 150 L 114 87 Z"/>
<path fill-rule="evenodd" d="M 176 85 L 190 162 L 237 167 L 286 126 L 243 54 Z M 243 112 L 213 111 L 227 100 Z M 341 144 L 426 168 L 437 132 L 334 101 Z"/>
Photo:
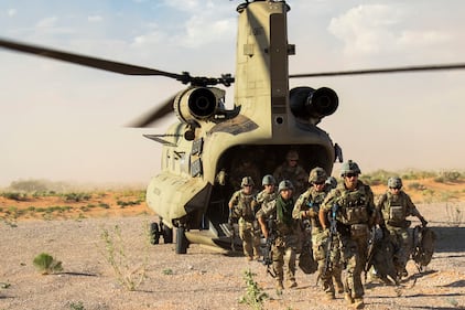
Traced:
<path fill-rule="evenodd" d="M 193 75 L 233 73 L 239 1 L 1 1 L 0 36 Z M 465 62 L 463 1 L 290 0 L 291 73 Z M 160 146 L 126 128 L 182 85 L 0 51 L 0 186 L 148 182 Z M 292 79 L 327 86 L 321 127 L 375 169 L 459 169 L 465 71 Z M 234 89 L 227 89 L 233 101 Z M 338 165 L 335 165 L 337 172 Z"/>

